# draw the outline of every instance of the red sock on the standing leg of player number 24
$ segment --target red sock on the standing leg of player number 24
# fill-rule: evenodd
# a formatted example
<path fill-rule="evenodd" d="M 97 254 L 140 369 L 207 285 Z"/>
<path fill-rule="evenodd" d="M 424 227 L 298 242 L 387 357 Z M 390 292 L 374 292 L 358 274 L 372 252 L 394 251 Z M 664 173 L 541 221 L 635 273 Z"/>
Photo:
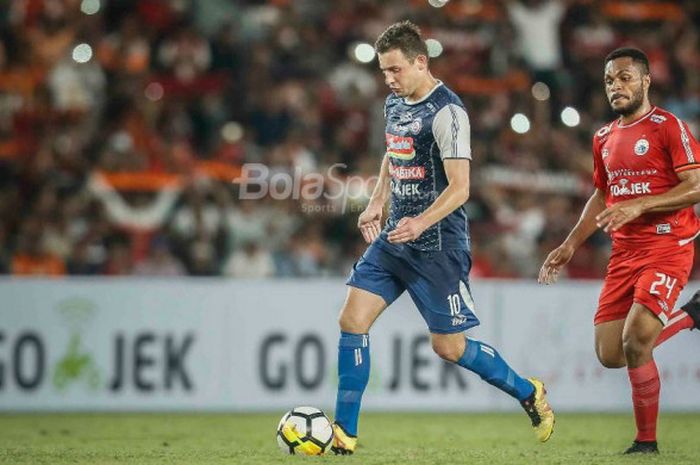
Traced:
<path fill-rule="evenodd" d="M 664 330 L 665 331 L 665 330 Z M 632 404 L 637 423 L 637 441 L 656 441 L 661 382 L 654 360 L 638 368 L 628 368 L 632 383 Z"/>

